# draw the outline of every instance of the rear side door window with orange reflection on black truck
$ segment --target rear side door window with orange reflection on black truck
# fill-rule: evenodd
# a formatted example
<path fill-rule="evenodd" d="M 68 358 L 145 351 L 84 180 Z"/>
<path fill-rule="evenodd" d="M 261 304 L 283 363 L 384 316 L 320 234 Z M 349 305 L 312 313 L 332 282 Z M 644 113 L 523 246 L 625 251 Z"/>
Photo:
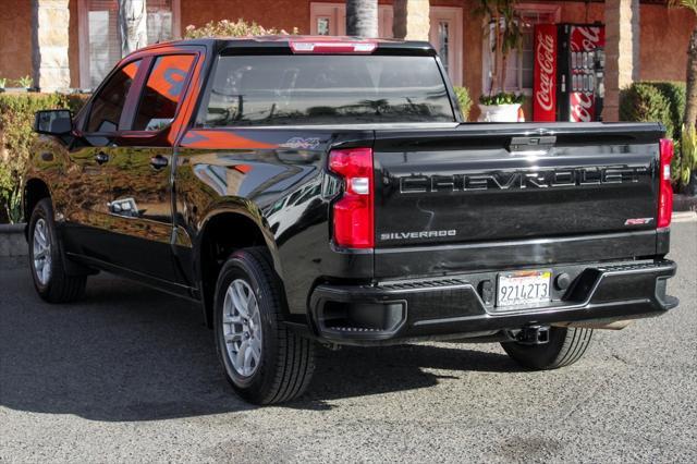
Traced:
<path fill-rule="evenodd" d="M 172 122 L 193 63 L 193 54 L 157 58 L 140 96 L 134 131 L 158 131 Z"/>

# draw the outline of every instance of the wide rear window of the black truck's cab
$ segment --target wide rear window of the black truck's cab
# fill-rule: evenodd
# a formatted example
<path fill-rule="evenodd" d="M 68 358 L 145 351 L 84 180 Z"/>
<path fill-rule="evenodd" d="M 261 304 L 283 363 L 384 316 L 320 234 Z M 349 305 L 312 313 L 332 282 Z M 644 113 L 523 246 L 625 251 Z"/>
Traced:
<path fill-rule="evenodd" d="M 454 121 L 431 57 L 222 56 L 204 126 Z"/>

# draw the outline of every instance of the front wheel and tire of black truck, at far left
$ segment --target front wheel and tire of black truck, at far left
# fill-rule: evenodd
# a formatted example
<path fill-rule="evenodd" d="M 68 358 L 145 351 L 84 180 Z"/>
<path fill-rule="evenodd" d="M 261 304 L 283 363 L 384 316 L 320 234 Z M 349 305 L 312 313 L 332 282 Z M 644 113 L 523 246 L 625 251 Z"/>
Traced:
<path fill-rule="evenodd" d="M 87 276 L 65 272 L 65 256 L 50 198 L 39 200 L 29 219 L 29 268 L 34 288 L 48 303 L 70 303 L 85 293 Z"/>

